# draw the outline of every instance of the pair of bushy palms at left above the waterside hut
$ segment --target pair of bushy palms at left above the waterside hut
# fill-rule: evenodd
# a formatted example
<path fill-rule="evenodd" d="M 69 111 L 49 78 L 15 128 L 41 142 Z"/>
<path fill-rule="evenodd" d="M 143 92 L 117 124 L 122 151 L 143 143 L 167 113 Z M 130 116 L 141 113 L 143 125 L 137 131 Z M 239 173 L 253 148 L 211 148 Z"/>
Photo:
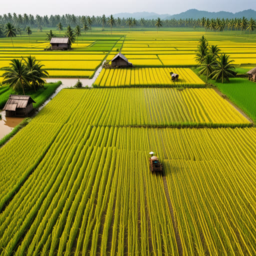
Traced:
<path fill-rule="evenodd" d="M 12 59 L 10 66 L 0 68 L 4 71 L 2 84 L 9 84 L 15 92 L 22 90 L 24 95 L 25 89 L 33 88 L 36 91 L 43 87 L 45 83 L 43 78 L 48 76 L 43 66 L 31 55 L 22 59 Z"/>

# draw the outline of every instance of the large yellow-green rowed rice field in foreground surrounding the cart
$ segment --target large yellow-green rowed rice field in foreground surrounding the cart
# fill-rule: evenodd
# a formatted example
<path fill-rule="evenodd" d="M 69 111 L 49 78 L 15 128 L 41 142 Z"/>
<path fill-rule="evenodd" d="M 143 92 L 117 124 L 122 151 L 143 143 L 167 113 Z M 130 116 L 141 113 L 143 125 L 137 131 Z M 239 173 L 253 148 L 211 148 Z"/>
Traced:
<path fill-rule="evenodd" d="M 204 101 L 234 116 L 212 89 L 63 89 L 0 148 L 0 253 L 253 255 L 256 129 L 131 127 Z"/>

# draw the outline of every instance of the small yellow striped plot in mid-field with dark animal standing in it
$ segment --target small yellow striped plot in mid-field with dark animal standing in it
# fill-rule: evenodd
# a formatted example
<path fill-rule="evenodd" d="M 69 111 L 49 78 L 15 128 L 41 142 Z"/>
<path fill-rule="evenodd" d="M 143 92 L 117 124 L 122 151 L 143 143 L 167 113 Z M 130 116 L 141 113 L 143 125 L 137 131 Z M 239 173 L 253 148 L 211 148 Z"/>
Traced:
<path fill-rule="evenodd" d="M 171 80 L 170 71 L 178 73 L 178 81 Z M 94 82 L 96 86 L 164 86 L 204 87 L 205 83 L 190 68 L 135 67 L 103 68 Z"/>

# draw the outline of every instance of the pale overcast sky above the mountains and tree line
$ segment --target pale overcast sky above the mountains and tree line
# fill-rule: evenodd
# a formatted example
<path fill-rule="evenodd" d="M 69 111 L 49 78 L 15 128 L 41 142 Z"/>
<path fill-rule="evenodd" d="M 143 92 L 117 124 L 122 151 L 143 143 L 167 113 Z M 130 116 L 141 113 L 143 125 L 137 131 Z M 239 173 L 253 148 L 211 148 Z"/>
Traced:
<path fill-rule="evenodd" d="M 109 15 L 137 11 L 176 14 L 191 8 L 231 12 L 256 10 L 256 0 L 0 0 L 0 14 Z"/>

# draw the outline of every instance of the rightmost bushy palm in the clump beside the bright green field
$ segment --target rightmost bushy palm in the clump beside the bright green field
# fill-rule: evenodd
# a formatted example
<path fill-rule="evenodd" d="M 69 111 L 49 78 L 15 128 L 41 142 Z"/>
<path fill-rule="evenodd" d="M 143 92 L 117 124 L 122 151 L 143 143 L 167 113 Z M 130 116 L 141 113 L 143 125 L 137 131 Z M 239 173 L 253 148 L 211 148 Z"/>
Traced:
<path fill-rule="evenodd" d="M 223 83 L 223 80 L 226 79 L 229 81 L 229 77 L 234 77 L 236 72 L 234 71 L 234 66 L 231 64 L 233 60 L 229 60 L 229 55 L 221 54 L 217 58 L 217 65 L 215 70 L 211 73 L 212 79 L 221 79 L 221 82 Z"/>

